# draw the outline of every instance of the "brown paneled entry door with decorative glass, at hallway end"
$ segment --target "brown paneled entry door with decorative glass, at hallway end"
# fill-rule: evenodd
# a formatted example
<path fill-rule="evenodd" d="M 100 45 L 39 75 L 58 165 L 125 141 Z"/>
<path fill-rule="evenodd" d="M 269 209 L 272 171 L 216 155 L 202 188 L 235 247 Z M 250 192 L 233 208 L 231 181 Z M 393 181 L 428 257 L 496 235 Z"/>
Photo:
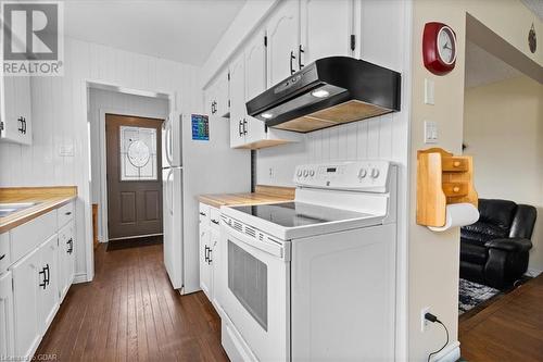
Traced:
<path fill-rule="evenodd" d="M 162 122 L 105 115 L 110 240 L 162 234 Z"/>

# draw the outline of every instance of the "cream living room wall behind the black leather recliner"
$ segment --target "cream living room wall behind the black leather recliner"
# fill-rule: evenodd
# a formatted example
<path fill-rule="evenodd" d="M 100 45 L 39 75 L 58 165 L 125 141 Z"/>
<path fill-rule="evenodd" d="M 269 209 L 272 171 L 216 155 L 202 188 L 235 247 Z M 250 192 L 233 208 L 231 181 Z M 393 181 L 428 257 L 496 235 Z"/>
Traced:
<path fill-rule="evenodd" d="M 464 142 L 479 197 L 538 208 L 529 269 L 543 271 L 543 86 L 526 76 L 466 89 Z"/>

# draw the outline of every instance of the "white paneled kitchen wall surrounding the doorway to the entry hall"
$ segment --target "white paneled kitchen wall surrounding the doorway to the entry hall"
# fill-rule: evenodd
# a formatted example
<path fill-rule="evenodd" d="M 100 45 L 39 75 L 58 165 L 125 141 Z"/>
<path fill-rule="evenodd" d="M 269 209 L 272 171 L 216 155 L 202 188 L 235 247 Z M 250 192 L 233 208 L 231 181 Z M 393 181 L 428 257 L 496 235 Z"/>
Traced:
<path fill-rule="evenodd" d="M 200 68 L 70 38 L 64 64 L 62 77 L 31 79 L 34 145 L 0 143 L 0 186 L 78 187 L 76 273 L 85 280 L 92 277 L 87 82 L 173 93 L 178 116 L 202 110 Z M 61 146 L 73 146 L 74 157 L 60 155 Z"/>

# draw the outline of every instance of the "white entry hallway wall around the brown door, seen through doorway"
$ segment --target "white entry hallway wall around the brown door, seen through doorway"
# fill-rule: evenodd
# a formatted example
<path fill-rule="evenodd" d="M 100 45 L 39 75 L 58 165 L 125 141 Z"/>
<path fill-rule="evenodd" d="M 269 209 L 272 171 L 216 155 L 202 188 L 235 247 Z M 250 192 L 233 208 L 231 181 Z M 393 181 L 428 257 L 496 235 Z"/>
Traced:
<path fill-rule="evenodd" d="M 90 151 L 91 151 L 91 202 L 98 203 L 98 230 L 99 240 L 105 241 L 102 228 L 102 204 L 101 189 L 102 179 L 102 146 L 104 129 L 101 126 L 102 112 L 114 112 L 126 115 L 139 115 L 143 117 L 155 117 L 166 120 L 168 116 L 168 100 L 163 98 L 151 98 L 134 96 L 104 89 L 89 88 L 89 123 L 90 123 Z"/>

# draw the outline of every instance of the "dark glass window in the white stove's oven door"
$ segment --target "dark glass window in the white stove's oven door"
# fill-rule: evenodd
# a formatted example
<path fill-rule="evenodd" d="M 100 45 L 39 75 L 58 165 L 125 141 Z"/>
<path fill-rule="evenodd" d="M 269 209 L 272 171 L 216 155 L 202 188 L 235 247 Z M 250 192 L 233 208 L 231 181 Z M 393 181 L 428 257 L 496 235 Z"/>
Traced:
<path fill-rule="evenodd" d="M 228 289 L 268 330 L 267 265 L 228 240 Z"/>

